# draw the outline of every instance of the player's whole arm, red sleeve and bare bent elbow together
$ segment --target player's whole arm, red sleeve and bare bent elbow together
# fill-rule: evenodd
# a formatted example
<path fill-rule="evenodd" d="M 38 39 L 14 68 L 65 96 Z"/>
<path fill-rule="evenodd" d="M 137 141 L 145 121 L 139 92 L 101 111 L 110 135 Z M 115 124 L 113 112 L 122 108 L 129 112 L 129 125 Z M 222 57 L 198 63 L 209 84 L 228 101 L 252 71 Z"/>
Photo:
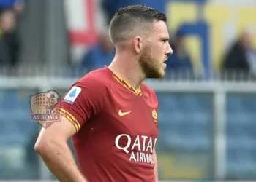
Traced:
<path fill-rule="evenodd" d="M 106 87 L 100 80 L 84 76 L 76 82 L 55 106 L 61 121 L 42 129 L 37 139 L 35 150 L 61 182 L 88 181 L 78 170 L 67 141 L 104 106 Z"/>

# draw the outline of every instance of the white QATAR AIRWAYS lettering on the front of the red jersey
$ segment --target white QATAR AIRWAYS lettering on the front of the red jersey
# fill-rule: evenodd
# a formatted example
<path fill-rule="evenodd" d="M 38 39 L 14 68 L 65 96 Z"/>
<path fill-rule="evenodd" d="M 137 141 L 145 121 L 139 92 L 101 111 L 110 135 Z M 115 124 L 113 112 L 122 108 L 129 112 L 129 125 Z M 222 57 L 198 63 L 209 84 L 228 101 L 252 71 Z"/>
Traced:
<path fill-rule="evenodd" d="M 146 135 L 137 135 L 135 140 L 127 134 L 116 137 L 115 145 L 117 149 L 124 151 L 129 156 L 129 161 L 154 164 L 153 151 L 157 143 L 157 138 Z"/>

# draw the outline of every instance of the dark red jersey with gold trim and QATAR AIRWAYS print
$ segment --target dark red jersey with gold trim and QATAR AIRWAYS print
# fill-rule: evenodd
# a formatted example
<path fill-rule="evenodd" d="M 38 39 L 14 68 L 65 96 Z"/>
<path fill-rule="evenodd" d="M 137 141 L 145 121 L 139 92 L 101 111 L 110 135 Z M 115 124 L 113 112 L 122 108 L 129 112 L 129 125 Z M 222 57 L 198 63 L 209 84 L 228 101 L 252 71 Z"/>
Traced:
<path fill-rule="evenodd" d="M 145 84 L 133 90 L 106 66 L 79 79 L 58 106 L 77 130 L 72 141 L 90 182 L 155 182 L 153 90 Z"/>

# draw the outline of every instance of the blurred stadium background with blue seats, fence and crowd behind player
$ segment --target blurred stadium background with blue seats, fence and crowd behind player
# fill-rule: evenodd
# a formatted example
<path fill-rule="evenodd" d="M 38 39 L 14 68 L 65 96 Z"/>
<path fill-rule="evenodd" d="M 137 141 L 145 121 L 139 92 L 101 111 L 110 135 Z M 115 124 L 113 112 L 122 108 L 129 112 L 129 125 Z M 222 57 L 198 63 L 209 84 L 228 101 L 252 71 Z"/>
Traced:
<path fill-rule="evenodd" d="M 146 80 L 159 98 L 159 177 L 256 181 L 256 0 L 0 0 L 1 180 L 54 180 L 34 152 L 30 97 L 64 95 L 109 64 L 108 23 L 131 4 L 166 13 L 174 51 L 165 78 Z"/>

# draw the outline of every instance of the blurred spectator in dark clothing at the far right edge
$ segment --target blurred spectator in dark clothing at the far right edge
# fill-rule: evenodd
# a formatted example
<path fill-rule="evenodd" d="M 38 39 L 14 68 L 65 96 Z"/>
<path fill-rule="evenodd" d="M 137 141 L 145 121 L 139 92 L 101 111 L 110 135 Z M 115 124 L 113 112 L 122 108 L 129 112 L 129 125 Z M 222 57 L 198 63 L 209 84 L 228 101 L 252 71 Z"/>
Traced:
<path fill-rule="evenodd" d="M 256 52 L 252 47 L 252 33 L 244 31 L 225 55 L 223 70 L 227 74 L 256 74 Z"/>

